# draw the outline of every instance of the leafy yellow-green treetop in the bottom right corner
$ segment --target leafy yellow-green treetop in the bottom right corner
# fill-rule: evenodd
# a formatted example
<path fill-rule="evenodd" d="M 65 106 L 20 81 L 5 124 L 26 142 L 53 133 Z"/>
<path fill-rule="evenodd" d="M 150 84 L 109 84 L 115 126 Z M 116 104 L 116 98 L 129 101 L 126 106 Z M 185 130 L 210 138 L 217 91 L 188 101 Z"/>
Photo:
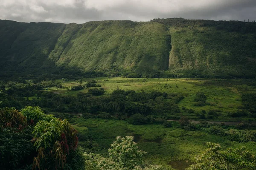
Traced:
<path fill-rule="evenodd" d="M 221 150 L 221 145 L 206 143 L 208 150 L 196 157 L 186 170 L 256 170 L 255 155 L 244 147 Z"/>

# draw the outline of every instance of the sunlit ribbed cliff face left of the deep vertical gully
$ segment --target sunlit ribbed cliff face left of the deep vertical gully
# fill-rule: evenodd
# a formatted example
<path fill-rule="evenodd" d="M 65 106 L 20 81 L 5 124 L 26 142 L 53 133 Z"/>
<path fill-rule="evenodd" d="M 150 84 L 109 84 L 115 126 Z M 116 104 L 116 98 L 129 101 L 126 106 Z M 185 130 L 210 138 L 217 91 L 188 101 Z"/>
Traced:
<path fill-rule="evenodd" d="M 83 71 L 166 70 L 169 35 L 159 23 L 101 21 L 67 25 L 49 57 L 59 66 Z"/>

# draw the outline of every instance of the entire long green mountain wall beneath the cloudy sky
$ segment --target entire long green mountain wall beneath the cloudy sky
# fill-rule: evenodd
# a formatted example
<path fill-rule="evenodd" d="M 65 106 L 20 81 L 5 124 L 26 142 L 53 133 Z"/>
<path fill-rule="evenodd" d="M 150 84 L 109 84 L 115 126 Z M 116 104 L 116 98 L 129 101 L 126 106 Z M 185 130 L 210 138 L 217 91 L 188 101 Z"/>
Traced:
<path fill-rule="evenodd" d="M 255 22 L 0 20 L 1 76 L 103 71 L 128 77 L 254 77 L 255 64 Z"/>

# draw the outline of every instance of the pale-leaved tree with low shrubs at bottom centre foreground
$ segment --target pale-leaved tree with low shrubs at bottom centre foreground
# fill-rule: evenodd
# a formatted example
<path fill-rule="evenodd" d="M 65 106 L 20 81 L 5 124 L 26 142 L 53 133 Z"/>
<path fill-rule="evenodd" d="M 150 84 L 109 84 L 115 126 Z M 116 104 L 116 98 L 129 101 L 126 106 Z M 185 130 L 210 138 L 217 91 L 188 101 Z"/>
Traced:
<path fill-rule="evenodd" d="M 89 170 L 163 170 L 159 165 L 145 166 L 142 161 L 146 152 L 139 150 L 133 136 L 116 137 L 108 150 L 109 158 L 93 153 L 85 153 L 86 167 Z"/>

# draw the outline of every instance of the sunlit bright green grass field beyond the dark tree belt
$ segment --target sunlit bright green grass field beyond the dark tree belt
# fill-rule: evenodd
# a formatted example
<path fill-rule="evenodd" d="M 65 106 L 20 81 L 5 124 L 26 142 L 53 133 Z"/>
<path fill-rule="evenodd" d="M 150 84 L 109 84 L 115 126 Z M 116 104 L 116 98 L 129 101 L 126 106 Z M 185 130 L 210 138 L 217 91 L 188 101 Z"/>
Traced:
<path fill-rule="evenodd" d="M 143 78 L 96 78 L 97 84 L 105 89 L 105 95 L 111 94 L 117 88 L 122 90 L 134 90 L 136 92 L 160 91 L 170 93 L 181 93 L 184 96 L 178 105 L 180 108 L 192 109 L 195 113 L 202 110 L 206 112 L 215 110 L 221 116 L 214 118 L 216 121 L 238 121 L 247 118 L 231 118 L 230 112 L 237 111 L 241 105 L 241 94 L 256 92 L 253 86 L 243 85 L 240 80 L 211 80 L 211 79 L 143 79 Z M 60 81 L 60 80 L 58 80 Z M 211 82 L 211 83 L 209 83 Z M 229 82 L 225 84 L 223 82 Z M 79 82 L 61 82 L 63 86 L 70 87 L 80 85 Z M 84 80 L 81 85 L 85 85 Z M 80 91 L 68 91 L 67 89 L 48 88 L 49 91 L 63 95 L 76 95 L 79 92 L 86 93 L 90 88 Z M 197 92 L 204 92 L 207 96 L 207 105 L 194 106 Z M 189 116 L 190 119 L 198 119 L 195 113 L 188 113 L 181 109 L 181 114 Z"/>

